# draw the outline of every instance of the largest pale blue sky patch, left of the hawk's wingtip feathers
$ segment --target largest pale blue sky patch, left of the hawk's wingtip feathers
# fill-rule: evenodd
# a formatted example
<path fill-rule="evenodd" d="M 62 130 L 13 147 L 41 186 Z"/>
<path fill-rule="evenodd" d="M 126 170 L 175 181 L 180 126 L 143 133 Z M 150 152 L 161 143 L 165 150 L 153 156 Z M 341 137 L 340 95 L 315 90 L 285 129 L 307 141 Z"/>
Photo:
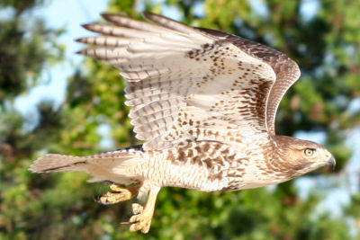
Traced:
<path fill-rule="evenodd" d="M 55 67 L 46 69 L 42 78 L 47 84 L 40 84 L 20 96 L 15 101 L 15 107 L 25 115 L 36 115 L 35 105 L 42 99 L 48 99 L 60 104 L 64 101 L 67 76 L 71 76 L 76 65 L 79 65 L 84 57 L 76 55 L 81 49 L 81 44 L 75 42 L 77 38 L 88 35 L 80 24 L 95 22 L 99 19 L 99 13 L 105 12 L 107 1 L 95 0 L 55 0 L 34 13 L 43 16 L 48 26 L 54 29 L 66 27 L 67 32 L 59 38 L 59 42 L 66 46 L 65 61 Z M 50 81 L 46 81 L 50 77 Z M 36 116 L 31 118 L 36 121 Z"/>

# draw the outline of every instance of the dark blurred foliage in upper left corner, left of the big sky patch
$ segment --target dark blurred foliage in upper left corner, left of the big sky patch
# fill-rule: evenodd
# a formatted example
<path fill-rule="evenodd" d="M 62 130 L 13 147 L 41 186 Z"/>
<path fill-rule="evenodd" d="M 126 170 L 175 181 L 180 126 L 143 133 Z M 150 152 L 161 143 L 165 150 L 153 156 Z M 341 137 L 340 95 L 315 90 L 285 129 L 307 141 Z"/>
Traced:
<path fill-rule="evenodd" d="M 40 18 L 23 17 L 35 4 L 32 1 L 4 5 L 12 4 L 13 17 L 0 22 L 0 104 L 36 84 L 44 67 L 58 61 L 63 52 L 55 40 L 64 30 L 50 30 Z"/>

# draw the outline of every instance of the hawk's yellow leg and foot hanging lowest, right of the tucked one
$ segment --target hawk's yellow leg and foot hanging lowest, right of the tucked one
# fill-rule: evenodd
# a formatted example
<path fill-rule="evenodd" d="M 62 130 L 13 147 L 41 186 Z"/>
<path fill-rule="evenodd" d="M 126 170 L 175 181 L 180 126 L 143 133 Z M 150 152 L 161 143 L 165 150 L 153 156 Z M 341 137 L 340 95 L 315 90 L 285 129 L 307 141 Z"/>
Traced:
<path fill-rule="evenodd" d="M 148 200 L 143 208 L 139 204 L 132 204 L 132 213 L 130 218 L 130 231 L 135 232 L 141 230 L 143 234 L 147 234 L 150 229 L 152 216 L 154 215 L 155 202 L 157 201 L 157 193 L 160 188 L 151 189 L 148 192 Z"/>

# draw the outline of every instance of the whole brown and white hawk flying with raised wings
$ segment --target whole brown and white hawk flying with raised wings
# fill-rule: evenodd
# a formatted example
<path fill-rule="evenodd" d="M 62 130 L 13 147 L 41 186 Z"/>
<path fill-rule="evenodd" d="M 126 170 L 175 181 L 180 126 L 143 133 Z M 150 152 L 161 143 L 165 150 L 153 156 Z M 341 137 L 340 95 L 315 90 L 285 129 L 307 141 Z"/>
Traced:
<path fill-rule="evenodd" d="M 149 22 L 104 13 L 85 24 L 98 36 L 80 51 L 120 70 L 139 147 L 93 156 L 49 154 L 35 173 L 81 171 L 110 181 L 103 203 L 132 205 L 130 231 L 148 233 L 162 187 L 236 191 L 293 179 L 335 164 L 317 143 L 275 135 L 275 114 L 299 78 L 284 53 L 238 36 L 144 13 Z"/>

